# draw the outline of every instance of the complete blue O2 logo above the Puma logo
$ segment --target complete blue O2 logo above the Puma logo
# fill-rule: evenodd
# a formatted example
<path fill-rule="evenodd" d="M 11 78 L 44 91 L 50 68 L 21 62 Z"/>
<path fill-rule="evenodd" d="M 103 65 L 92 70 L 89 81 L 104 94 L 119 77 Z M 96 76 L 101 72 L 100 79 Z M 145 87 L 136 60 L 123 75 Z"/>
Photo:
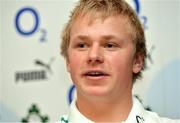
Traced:
<path fill-rule="evenodd" d="M 31 27 L 26 27 L 23 26 L 23 23 L 27 23 L 27 19 L 23 19 L 23 16 L 31 16 L 33 18 L 33 25 Z M 25 22 L 26 20 L 26 22 Z M 29 24 L 30 25 L 30 24 Z M 16 31 L 22 35 L 22 36 L 32 36 L 33 34 L 37 33 L 37 31 L 41 32 L 40 35 L 40 41 L 45 42 L 46 41 L 46 36 L 47 36 L 47 31 L 45 29 L 39 29 L 40 26 L 40 16 L 37 10 L 35 10 L 32 7 L 24 7 L 21 8 L 16 16 L 15 16 L 15 28 Z"/>

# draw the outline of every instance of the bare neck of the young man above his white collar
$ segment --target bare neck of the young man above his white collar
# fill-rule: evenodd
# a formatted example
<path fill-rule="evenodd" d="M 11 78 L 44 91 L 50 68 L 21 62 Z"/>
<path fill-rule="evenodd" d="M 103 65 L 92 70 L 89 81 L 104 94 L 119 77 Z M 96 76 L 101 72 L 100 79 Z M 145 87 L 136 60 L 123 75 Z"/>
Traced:
<path fill-rule="evenodd" d="M 78 110 L 95 122 L 125 121 L 132 108 L 132 94 L 121 95 L 116 99 L 82 99 L 77 98 Z"/>

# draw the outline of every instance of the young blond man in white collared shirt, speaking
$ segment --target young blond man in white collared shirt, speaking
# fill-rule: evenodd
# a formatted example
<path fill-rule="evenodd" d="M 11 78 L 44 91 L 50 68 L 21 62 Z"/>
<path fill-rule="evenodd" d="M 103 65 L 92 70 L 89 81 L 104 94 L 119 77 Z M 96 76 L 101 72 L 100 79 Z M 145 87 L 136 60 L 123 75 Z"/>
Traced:
<path fill-rule="evenodd" d="M 77 99 L 60 122 L 180 123 L 144 110 L 132 96 L 147 55 L 142 25 L 124 0 L 80 0 L 63 31 L 61 54 Z"/>

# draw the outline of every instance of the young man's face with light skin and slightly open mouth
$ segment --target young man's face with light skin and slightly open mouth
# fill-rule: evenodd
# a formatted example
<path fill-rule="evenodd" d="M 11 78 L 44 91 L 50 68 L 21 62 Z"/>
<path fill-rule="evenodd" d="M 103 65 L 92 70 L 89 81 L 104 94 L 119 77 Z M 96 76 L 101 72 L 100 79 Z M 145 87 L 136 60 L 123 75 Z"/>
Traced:
<path fill-rule="evenodd" d="M 132 73 L 141 70 L 134 58 L 130 26 L 123 16 L 79 17 L 71 28 L 67 69 L 77 96 L 115 97 L 132 90 Z"/>

